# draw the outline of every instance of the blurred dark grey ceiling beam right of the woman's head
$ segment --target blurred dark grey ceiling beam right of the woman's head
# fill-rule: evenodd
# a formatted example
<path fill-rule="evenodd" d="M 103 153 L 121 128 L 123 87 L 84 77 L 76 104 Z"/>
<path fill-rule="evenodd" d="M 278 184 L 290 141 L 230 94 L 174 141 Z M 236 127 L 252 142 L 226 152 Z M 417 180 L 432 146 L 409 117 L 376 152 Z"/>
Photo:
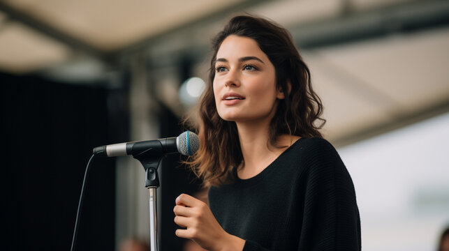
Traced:
<path fill-rule="evenodd" d="M 347 10 L 337 18 L 290 25 L 288 29 L 297 47 L 309 50 L 448 24 L 449 1 L 421 0 L 367 11 Z"/>

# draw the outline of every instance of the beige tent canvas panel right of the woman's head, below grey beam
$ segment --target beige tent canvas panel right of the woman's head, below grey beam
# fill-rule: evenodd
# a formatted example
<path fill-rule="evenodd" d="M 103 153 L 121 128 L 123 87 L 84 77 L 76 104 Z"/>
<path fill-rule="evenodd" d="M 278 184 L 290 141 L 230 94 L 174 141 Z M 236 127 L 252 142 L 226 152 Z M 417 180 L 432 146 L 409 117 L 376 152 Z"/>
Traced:
<path fill-rule="evenodd" d="M 327 135 L 385 130 L 442 104 L 448 109 L 448 45 L 449 29 L 443 28 L 304 54 L 325 105 Z"/>

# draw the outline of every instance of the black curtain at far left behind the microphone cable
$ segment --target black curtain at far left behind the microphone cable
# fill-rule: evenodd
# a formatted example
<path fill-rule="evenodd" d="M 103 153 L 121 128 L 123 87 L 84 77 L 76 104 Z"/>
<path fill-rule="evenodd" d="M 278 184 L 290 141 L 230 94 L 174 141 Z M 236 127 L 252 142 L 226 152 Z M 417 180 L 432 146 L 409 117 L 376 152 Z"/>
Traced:
<path fill-rule="evenodd" d="M 110 126 L 117 93 L 3 73 L 0 86 L 1 138 L 6 139 L 2 250 L 70 250 L 91 149 L 126 137 L 110 136 L 115 135 L 110 128 L 117 128 Z M 122 132 L 128 129 L 126 119 L 119 118 Z M 76 248 L 114 250 L 114 158 L 94 160 L 85 189 Z"/>

